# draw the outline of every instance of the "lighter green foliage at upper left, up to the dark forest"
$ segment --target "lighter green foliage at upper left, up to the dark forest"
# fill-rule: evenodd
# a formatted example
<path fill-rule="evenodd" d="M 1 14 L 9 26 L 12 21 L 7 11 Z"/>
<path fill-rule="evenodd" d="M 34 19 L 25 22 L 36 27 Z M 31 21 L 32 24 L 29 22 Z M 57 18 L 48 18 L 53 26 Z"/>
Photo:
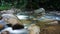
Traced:
<path fill-rule="evenodd" d="M 25 5 L 26 0 L 0 0 L 0 10 L 7 10 L 12 7 L 21 9 Z"/>

